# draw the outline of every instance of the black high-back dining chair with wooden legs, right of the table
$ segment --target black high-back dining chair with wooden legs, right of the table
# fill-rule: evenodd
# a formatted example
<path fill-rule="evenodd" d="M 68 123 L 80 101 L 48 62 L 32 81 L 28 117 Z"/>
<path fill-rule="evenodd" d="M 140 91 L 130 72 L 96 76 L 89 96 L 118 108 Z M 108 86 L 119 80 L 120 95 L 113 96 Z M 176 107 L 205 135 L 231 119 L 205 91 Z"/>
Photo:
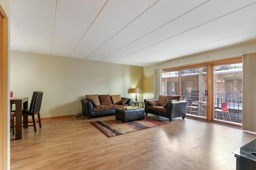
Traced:
<path fill-rule="evenodd" d="M 39 127 L 41 127 L 41 119 L 40 119 L 40 108 L 43 98 L 43 92 L 33 92 L 31 103 L 29 109 L 23 110 L 23 127 L 34 126 L 34 131 L 36 132 L 36 123 L 39 123 Z M 38 116 L 38 120 L 35 121 L 35 115 Z M 32 121 L 28 121 L 28 116 L 32 116 Z M 33 125 L 29 125 L 28 123 L 33 123 Z"/>

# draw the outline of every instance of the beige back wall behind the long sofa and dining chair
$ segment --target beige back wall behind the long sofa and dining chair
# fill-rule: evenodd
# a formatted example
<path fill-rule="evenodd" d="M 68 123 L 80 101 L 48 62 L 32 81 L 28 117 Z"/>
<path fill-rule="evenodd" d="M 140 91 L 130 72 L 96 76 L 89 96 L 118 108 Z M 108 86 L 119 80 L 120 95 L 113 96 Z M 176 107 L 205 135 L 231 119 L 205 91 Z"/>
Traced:
<path fill-rule="evenodd" d="M 75 115 L 85 94 L 121 94 L 143 87 L 143 67 L 67 57 L 10 52 L 10 90 L 14 96 L 43 91 L 41 117 Z M 140 100 L 142 94 L 137 94 Z"/>

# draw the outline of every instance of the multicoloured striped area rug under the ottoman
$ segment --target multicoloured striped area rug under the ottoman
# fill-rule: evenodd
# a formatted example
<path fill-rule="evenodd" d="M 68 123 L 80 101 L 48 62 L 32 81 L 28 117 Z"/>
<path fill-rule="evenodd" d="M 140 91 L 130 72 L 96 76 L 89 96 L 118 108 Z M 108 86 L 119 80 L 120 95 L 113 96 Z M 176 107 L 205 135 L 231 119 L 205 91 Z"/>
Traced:
<path fill-rule="evenodd" d="M 165 125 L 170 122 L 160 121 L 158 119 L 145 116 L 143 120 L 129 121 L 127 123 L 123 123 L 122 121 L 116 119 L 91 121 L 90 123 L 92 123 L 92 125 L 98 128 L 100 131 L 102 131 L 102 133 L 104 133 L 106 136 L 114 137 L 117 135 L 147 129 L 150 127 Z"/>

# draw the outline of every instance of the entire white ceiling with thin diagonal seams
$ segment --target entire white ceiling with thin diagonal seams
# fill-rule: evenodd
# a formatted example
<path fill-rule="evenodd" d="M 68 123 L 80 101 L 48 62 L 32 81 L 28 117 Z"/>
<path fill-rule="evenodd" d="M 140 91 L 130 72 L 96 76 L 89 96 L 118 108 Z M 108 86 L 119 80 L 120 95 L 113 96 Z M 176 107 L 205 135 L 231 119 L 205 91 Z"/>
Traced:
<path fill-rule="evenodd" d="M 256 39 L 256 0 L 11 0 L 10 49 L 148 66 Z"/>

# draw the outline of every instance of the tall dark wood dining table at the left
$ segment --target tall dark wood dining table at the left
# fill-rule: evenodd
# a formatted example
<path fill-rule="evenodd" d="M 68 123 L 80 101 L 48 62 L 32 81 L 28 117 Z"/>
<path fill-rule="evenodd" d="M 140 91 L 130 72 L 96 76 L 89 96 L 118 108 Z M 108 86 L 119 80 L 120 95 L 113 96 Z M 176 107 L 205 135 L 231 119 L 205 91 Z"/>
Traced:
<path fill-rule="evenodd" d="M 28 108 L 28 97 L 10 97 L 10 104 L 15 104 L 15 140 L 22 139 L 22 110 Z"/>

